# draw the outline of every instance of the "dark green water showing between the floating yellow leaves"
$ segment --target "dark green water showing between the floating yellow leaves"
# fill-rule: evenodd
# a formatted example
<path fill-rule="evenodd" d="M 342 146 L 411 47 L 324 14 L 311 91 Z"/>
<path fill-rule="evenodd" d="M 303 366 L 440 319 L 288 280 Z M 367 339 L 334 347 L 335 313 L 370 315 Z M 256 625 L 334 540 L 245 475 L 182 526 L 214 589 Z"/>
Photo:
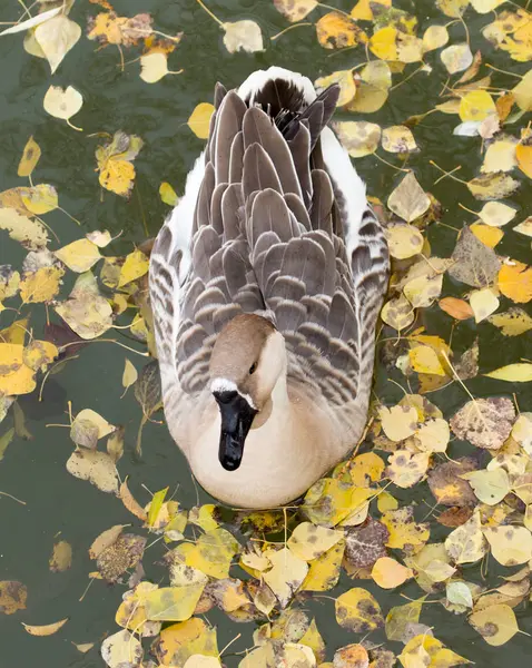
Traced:
<path fill-rule="evenodd" d="M 338 0 L 332 0 L 331 3 L 346 11 L 353 6 L 353 2 Z M 132 250 L 134 244 L 156 235 L 168 210 L 160 202 L 159 185 L 166 180 L 173 184 L 178 194 L 183 193 L 186 174 L 203 146 L 186 126 L 186 120 L 198 102 L 211 100 L 216 81 L 223 81 L 228 88 L 235 87 L 253 70 L 270 65 L 302 71 L 314 80 L 333 70 L 354 66 L 364 58 L 361 50 L 341 55 L 324 50 L 317 43 L 315 31 L 311 27 L 297 28 L 275 42 L 269 42 L 269 36 L 287 23 L 273 3 L 266 0 L 213 0 L 209 7 L 227 21 L 245 18 L 256 20 L 263 29 L 266 50 L 253 55 L 228 53 L 221 45 L 218 26 L 193 0 L 115 2 L 120 16 L 146 11 L 152 14 L 158 30 L 170 35 L 184 32 L 183 42 L 169 60 L 170 69 L 184 68 L 184 73 L 168 76 L 155 85 L 145 84 L 139 78 L 138 63 L 129 65 L 125 72 L 120 71 L 118 51 L 111 47 L 98 51 L 96 43 L 87 40 L 85 35 L 53 77 L 50 77 L 46 61 L 26 53 L 20 35 L 0 39 L 0 59 L 3 65 L 0 77 L 0 189 L 24 185 L 17 177 L 17 165 L 28 137 L 33 135 L 42 149 L 36 179 L 38 183 L 53 184 L 59 191 L 61 206 L 82 224 L 80 230 L 61 212 L 49 214 L 47 223 L 61 239 L 61 245 L 93 229 L 109 229 L 114 234 L 122 230 L 120 239 L 104 250 L 105 254 L 111 252 L 120 255 Z M 432 1 L 404 2 L 402 7 L 417 16 L 420 35 L 435 21 L 447 21 L 434 9 Z M 87 17 L 93 16 L 98 9 L 87 1 L 78 0 L 71 18 L 82 26 L 85 32 Z M 3 0 L 0 19 L 13 20 L 19 11 L 20 6 L 16 0 Z M 313 18 L 316 20 L 317 17 L 313 14 Z M 481 43 L 485 49 L 485 40 L 479 35 L 479 27 L 485 22 L 485 17 L 472 14 L 469 29 L 473 50 Z M 453 32 L 455 29 L 456 32 Z M 456 41 L 459 29 L 451 28 L 451 35 L 452 41 Z M 126 60 L 135 58 L 138 52 L 138 49 L 126 52 Z M 432 52 L 427 56 L 427 62 L 433 63 L 436 58 L 436 52 Z M 524 63 L 511 61 L 509 65 L 510 59 L 500 53 L 491 55 L 490 60 L 519 72 L 526 69 Z M 437 76 L 422 73 L 414 77 L 392 95 L 381 111 L 364 118 L 386 127 L 402 122 L 413 114 L 431 109 L 441 101 L 437 98 L 443 81 L 441 69 L 440 67 Z M 494 81 L 496 80 L 495 76 Z M 504 82 L 495 85 L 509 85 L 506 79 L 502 80 Z M 42 99 L 51 82 L 73 85 L 82 94 L 83 107 L 73 121 L 83 128 L 83 132 L 73 131 L 65 122 L 45 112 Z M 347 117 L 348 115 L 345 116 Z M 411 158 L 410 166 L 415 168 L 421 184 L 443 204 L 443 222 L 461 227 L 465 218 L 457 207 L 459 199 L 475 209 L 480 208 L 479 203 L 473 200 L 466 188 L 449 179 L 434 186 L 434 180 L 440 175 L 428 164 L 428 158 L 446 169 L 460 164 L 461 174 L 466 175 L 464 178 L 476 173 L 481 163 L 480 141 L 477 138 L 453 137 L 452 128 L 456 122 L 456 117 L 434 114 L 417 126 L 415 137 L 422 151 Z M 101 141 L 88 135 L 102 131 L 112 134 L 118 129 L 140 135 L 145 140 L 145 147 L 135 161 L 136 186 L 128 202 L 110 193 L 105 193 L 100 200 L 100 187 L 93 171 L 93 151 Z M 383 200 L 398 179 L 395 170 L 373 156 L 358 160 L 357 168 L 368 183 L 370 194 Z M 512 198 L 512 204 L 521 208 L 519 219 L 525 217 L 525 203 L 526 197 L 530 202 L 530 188 L 522 187 Z M 441 257 L 451 254 L 456 239 L 452 230 L 434 226 L 427 236 L 434 254 Z M 12 263 L 20 266 L 23 250 L 6 239 L 4 233 L 1 233 L 0 264 Z M 526 257 L 530 258 L 530 239 L 515 234 L 506 235 L 497 247 L 497 253 L 526 262 Z M 11 322 L 9 313 L 1 314 L 0 317 L 2 316 L 6 317 L 0 322 L 6 324 L 1 326 L 7 326 Z M 426 310 L 424 314 L 424 325 L 428 332 L 446 340 L 451 331 L 450 323 L 451 318 L 437 307 Z M 38 318 L 32 325 L 38 331 Z M 453 347 L 456 345 L 459 350 L 465 348 L 474 336 L 474 324 L 469 321 L 467 325 L 457 327 Z M 530 358 L 530 346 L 526 351 L 524 338 L 525 336 L 518 340 L 503 338 L 497 331 L 490 328 L 482 340 L 481 371 L 515 362 L 521 356 Z M 26 505 L 21 505 L 0 497 L 0 580 L 20 580 L 28 587 L 29 596 L 26 611 L 0 617 L 1 668 L 101 667 L 104 662 L 97 648 L 83 656 L 71 641 L 96 642 L 98 647 L 106 633 L 118 630 L 114 617 L 126 590 L 122 586 L 108 587 L 96 581 L 81 602 L 79 599 L 89 582 L 88 573 L 95 569 L 95 563 L 87 554 L 88 547 L 96 536 L 112 524 L 130 523 L 131 515 L 115 497 L 98 491 L 67 472 L 65 463 L 72 451 L 68 430 L 47 426 L 50 423 L 67 423 L 67 401 L 72 402 L 76 412 L 91 407 L 112 424 L 126 426 L 126 454 L 119 463 L 119 470 L 121 477 L 130 477 L 130 488 L 137 498 L 147 499 L 140 487 L 142 483 L 151 491 L 166 485 L 173 490 L 179 485 L 176 495 L 179 502 L 186 508 L 197 503 L 196 489 L 186 462 L 165 426 L 148 424 L 144 433 L 144 456 L 138 460 L 134 455 L 140 411 L 131 392 L 120 399 L 126 354 L 126 351 L 112 344 L 89 345 L 81 351 L 79 358 L 69 362 L 60 374 L 49 379 L 43 402 L 39 403 L 36 394 L 20 400 L 33 439 L 17 438 L 0 463 L 0 490 L 26 502 Z M 144 364 L 141 357 L 129 353 L 127 356 L 137 367 Z M 396 380 L 402 380 L 400 372 Z M 473 380 L 469 386 L 476 396 L 509 393 L 508 385 L 499 385 L 482 376 Z M 530 390 L 526 392 L 519 387 L 516 391 L 521 392 L 521 410 L 531 410 Z M 378 395 L 384 401 L 397 401 L 401 397 L 401 391 L 386 382 L 383 369 L 378 371 Z M 433 395 L 433 401 L 446 418 L 465 400 L 457 384 Z M 0 430 L 2 433 L 4 425 Z M 453 451 L 453 455 L 456 454 L 460 453 Z M 415 500 L 423 503 L 423 494 L 426 494 L 426 501 L 432 505 L 434 500 L 426 485 L 420 487 L 421 489 L 414 488 L 413 491 L 401 490 L 401 495 L 397 494 L 401 502 Z M 200 502 L 208 501 L 207 494 L 199 494 Z M 70 570 L 52 573 L 48 568 L 48 559 L 59 533 L 71 543 L 73 561 Z M 443 536 L 445 530 L 436 524 L 431 541 L 441 540 Z M 154 559 L 160 554 L 156 550 L 157 548 L 148 549 L 144 559 L 148 576 L 155 580 L 165 576 L 162 570 L 159 573 L 151 566 L 151 551 Z M 493 560 L 490 568 L 495 570 Z M 465 574 L 467 572 L 465 570 Z M 343 578 L 333 596 L 353 586 L 345 576 Z M 364 581 L 362 586 L 374 592 L 385 612 L 390 607 L 405 602 L 397 593 L 386 593 L 371 581 Z M 404 586 L 401 591 L 411 598 L 420 596 L 415 583 Z M 318 600 L 308 603 L 307 608 L 316 615 L 318 628 L 327 642 L 329 660 L 335 648 L 359 639 L 339 629 L 334 621 L 332 601 Z M 518 608 L 516 613 L 520 628 L 532 632 L 532 616 L 524 605 Z M 49 638 L 31 637 L 20 623 L 21 620 L 28 623 L 48 623 L 65 617 L 70 618 L 68 625 Z M 220 648 L 238 632 L 243 637 L 231 646 L 230 651 L 238 652 L 253 646 L 253 623 L 236 625 L 216 611 L 208 617 L 218 625 Z M 425 606 L 421 621 L 433 626 L 440 640 L 479 667 L 508 665 L 524 668 L 530 665 L 532 641 L 525 635 L 515 636 L 502 648 L 491 648 L 465 622 L 464 617 L 454 616 L 435 605 Z M 390 647 L 397 654 L 401 651 L 398 644 L 390 644 Z M 230 655 L 224 659 L 230 668 L 237 666 L 240 657 Z"/>

